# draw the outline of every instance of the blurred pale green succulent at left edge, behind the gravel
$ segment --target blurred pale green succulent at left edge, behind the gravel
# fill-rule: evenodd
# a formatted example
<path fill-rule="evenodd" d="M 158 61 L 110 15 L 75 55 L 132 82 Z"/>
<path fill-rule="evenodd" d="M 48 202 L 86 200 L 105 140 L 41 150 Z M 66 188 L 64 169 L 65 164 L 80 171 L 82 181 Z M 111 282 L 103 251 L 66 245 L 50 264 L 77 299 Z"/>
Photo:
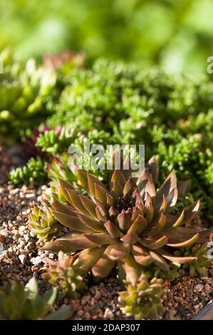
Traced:
<path fill-rule="evenodd" d="M 0 74 L 0 143 L 27 135 L 54 112 L 61 91 L 66 86 L 64 76 L 73 67 L 83 64 L 83 55 L 60 53 L 46 56 L 42 64 L 29 58 L 17 60 L 9 48 L 0 53 L 4 73 Z M 39 131 L 43 133 L 46 130 Z"/>

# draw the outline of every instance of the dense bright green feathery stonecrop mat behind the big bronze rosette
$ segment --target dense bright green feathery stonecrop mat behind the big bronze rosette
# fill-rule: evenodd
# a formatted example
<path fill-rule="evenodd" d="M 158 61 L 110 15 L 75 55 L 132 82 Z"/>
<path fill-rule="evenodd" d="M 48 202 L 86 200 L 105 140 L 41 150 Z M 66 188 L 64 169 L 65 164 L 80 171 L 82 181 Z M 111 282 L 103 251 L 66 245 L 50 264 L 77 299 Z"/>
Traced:
<path fill-rule="evenodd" d="M 50 153 L 60 159 L 68 150 L 67 139 L 57 135 L 58 125 L 76 129 L 78 135 L 71 138 L 75 145 L 83 145 L 85 138 L 95 143 L 144 143 L 146 159 L 155 154 L 162 166 L 161 182 L 172 169 L 180 180 L 191 179 L 189 191 L 201 200 L 204 215 L 212 215 L 212 83 L 207 78 L 140 71 L 103 59 L 89 70 L 71 66 L 55 72 L 57 98 L 51 90 L 48 131 L 38 140 L 50 163 L 46 175 L 51 171 Z M 33 172 L 27 170 L 31 177 Z M 90 172 L 107 180 L 103 171 Z"/>

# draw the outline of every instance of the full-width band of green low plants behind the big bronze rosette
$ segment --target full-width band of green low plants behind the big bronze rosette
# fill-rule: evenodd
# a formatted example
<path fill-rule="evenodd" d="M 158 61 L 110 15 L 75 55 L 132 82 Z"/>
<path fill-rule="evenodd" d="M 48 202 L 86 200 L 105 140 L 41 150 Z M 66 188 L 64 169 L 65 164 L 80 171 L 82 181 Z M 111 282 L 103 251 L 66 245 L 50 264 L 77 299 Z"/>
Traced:
<path fill-rule="evenodd" d="M 156 155 L 162 181 L 175 169 L 189 180 L 185 205 L 199 197 L 211 217 L 213 195 L 213 83 L 205 76 L 168 75 L 98 59 L 90 68 L 70 61 L 48 68 L 21 64 L 4 51 L 0 76 L 0 135 L 31 149 L 11 183 L 43 182 L 75 175 L 67 167 L 71 144 L 145 144 L 145 158 Z M 103 171 L 95 171 L 105 180 Z"/>

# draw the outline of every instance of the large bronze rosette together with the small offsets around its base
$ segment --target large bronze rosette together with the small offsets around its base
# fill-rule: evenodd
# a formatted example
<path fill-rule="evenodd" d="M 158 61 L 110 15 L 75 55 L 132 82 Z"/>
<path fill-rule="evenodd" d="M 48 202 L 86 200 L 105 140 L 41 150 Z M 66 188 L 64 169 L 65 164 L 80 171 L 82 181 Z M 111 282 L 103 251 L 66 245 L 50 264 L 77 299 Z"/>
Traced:
<path fill-rule="evenodd" d="M 185 227 L 197 215 L 199 202 L 174 211 L 178 195 L 186 189 L 185 183 L 177 184 L 175 171 L 160 185 L 154 156 L 138 177 L 132 177 L 129 164 L 120 150 L 113 153 L 109 187 L 90 172 L 76 170 L 84 195 L 75 184 L 58 178 L 57 193 L 53 189 L 45 201 L 56 220 L 71 231 L 44 245 L 45 250 L 59 252 L 59 259 L 49 264 L 43 277 L 73 298 L 88 272 L 103 278 L 117 267 L 126 288 L 120 293 L 125 313 L 155 319 L 163 311 L 162 279 L 178 277 L 180 266 L 190 267 L 191 274 L 192 267 L 202 273 L 212 229 Z M 74 254 L 69 259 L 63 252 Z"/>

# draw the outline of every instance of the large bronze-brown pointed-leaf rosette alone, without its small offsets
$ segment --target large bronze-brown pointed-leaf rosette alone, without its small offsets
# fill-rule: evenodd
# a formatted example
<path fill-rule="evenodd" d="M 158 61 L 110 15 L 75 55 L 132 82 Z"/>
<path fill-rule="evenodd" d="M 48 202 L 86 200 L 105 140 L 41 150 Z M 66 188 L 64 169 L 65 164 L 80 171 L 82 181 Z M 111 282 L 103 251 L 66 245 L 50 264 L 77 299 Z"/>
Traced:
<path fill-rule="evenodd" d="M 183 264 L 197 259 L 174 254 L 179 248 L 205 242 L 211 231 L 180 227 L 196 215 L 199 202 L 179 215 L 172 215 L 178 193 L 174 171 L 157 190 L 155 158 L 137 178 L 131 177 L 131 170 L 115 168 L 109 188 L 85 170 L 76 173 L 88 197 L 80 195 L 68 182 L 59 180 L 67 203 L 53 197 L 51 210 L 71 232 L 49 242 L 44 249 L 78 251 L 73 267 L 81 275 L 91 270 L 95 277 L 108 276 L 115 264 L 125 269 L 129 256 L 135 261 L 132 269 L 135 271 L 138 267 L 139 272 L 150 264 L 169 272 L 170 262 Z"/>

